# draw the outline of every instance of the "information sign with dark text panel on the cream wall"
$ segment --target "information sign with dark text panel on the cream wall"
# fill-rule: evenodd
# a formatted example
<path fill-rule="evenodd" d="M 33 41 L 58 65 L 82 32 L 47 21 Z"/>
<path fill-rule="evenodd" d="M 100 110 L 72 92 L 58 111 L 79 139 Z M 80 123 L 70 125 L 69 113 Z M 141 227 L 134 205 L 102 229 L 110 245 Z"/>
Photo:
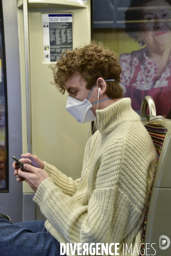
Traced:
<path fill-rule="evenodd" d="M 61 53 L 72 51 L 72 14 L 43 14 L 43 59 L 56 62 Z"/>

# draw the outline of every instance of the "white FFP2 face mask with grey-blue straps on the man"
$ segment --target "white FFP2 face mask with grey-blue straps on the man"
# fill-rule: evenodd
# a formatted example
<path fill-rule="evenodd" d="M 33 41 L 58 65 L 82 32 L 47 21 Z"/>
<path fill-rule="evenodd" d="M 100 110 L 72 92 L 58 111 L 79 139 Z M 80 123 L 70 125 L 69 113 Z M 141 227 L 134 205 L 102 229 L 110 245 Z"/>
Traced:
<path fill-rule="evenodd" d="M 115 79 L 107 79 L 104 81 L 115 81 Z M 91 103 L 88 99 L 90 98 L 91 93 L 93 92 L 95 85 L 93 86 L 92 90 L 89 93 L 89 96 L 87 99 L 84 99 L 84 101 L 80 101 L 78 99 L 72 98 L 68 96 L 67 99 L 67 106 L 66 110 L 80 123 L 86 123 L 86 122 L 92 122 L 95 121 L 96 116 L 93 114 L 90 108 L 92 108 L 92 105 L 97 104 L 97 102 Z M 111 98 L 107 99 L 102 99 L 99 101 L 103 102 L 105 100 L 108 100 Z"/>

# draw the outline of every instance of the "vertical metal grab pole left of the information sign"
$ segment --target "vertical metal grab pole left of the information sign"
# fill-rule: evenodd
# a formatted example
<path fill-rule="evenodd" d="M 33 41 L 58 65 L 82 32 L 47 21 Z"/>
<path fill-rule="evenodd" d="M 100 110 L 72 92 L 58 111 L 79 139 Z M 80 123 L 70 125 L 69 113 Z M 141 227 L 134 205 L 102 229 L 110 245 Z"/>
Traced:
<path fill-rule="evenodd" d="M 32 154 L 32 116 L 31 116 L 31 89 L 30 89 L 30 58 L 29 58 L 29 22 L 28 0 L 23 0 L 24 19 L 24 49 L 26 68 L 26 108 L 27 108 L 27 152 Z"/>

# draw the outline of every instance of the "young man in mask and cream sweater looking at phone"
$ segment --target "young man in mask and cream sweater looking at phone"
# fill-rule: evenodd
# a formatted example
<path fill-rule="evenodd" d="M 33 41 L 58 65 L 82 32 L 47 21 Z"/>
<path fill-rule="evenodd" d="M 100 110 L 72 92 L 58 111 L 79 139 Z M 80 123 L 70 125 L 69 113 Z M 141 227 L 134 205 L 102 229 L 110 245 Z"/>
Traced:
<path fill-rule="evenodd" d="M 29 153 L 21 159 L 29 173 L 17 170 L 17 163 L 13 163 L 17 181 L 25 180 L 35 191 L 34 201 L 47 221 L 34 222 L 31 235 L 25 230 L 32 230 L 27 222 L 17 226 L 6 221 L 3 231 L 7 226 L 11 228 L 13 247 L 20 239 L 22 248 L 23 237 L 28 237 L 32 246 L 39 247 L 40 255 L 60 255 L 57 241 L 119 243 L 117 253 L 123 255 L 123 244 L 141 244 L 157 159 L 153 142 L 131 108 L 130 99 L 123 98 L 119 85 L 121 67 L 114 52 L 91 43 L 63 54 L 52 69 L 57 88 L 69 94 L 67 111 L 80 123 L 95 121 L 98 130 L 87 142 L 81 179 L 72 180 Z M 42 245 L 47 233 L 40 232 L 39 225 L 49 231 L 47 250 Z M 0 230 L 1 227 L 0 224 Z M 20 230 L 17 237 L 12 231 L 16 228 Z M 4 244 L 0 241 L 1 248 L 10 236 L 9 240 L 6 236 Z M 54 254 L 48 254 L 49 248 Z M 8 253 L 14 255 L 10 250 Z"/>

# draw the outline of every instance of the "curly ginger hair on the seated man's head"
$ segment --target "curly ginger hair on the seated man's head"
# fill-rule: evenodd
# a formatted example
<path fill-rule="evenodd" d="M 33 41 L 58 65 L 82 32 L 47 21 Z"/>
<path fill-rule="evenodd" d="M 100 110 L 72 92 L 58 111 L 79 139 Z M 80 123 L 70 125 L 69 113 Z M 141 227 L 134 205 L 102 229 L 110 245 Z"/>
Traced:
<path fill-rule="evenodd" d="M 110 98 L 123 98 L 123 90 L 119 85 L 121 66 L 119 57 L 115 52 L 105 48 L 102 44 L 91 42 L 84 47 L 72 51 L 65 51 L 56 64 L 51 64 L 54 82 L 58 90 L 64 94 L 66 81 L 78 71 L 80 78 L 86 81 L 86 88 L 91 90 L 99 77 L 115 79 L 107 81 L 106 94 Z"/>

